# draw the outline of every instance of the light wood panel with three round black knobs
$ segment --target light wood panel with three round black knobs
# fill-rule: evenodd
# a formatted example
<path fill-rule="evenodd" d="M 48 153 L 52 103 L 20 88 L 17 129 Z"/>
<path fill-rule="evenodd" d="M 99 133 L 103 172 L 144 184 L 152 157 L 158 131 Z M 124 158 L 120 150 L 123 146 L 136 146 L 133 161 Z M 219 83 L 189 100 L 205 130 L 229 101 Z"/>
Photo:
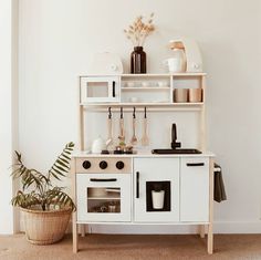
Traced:
<path fill-rule="evenodd" d="M 107 167 L 102 169 L 102 162 L 106 162 Z M 117 163 L 121 166 L 117 168 Z M 123 163 L 123 164 L 122 164 Z M 76 173 L 81 174 L 130 174 L 132 173 L 132 158 L 123 157 L 84 157 L 76 159 Z"/>

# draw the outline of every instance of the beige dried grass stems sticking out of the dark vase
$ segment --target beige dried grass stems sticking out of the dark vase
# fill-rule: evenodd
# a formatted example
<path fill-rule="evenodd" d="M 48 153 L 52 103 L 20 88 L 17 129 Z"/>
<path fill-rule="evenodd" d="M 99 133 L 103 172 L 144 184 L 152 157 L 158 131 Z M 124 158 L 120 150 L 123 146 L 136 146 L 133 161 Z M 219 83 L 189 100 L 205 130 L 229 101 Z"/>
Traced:
<path fill-rule="evenodd" d="M 150 13 L 147 22 L 143 21 L 144 17 L 139 15 L 135 21 L 124 30 L 125 35 L 132 41 L 134 46 L 143 46 L 145 40 L 155 31 L 153 24 L 154 13 Z"/>

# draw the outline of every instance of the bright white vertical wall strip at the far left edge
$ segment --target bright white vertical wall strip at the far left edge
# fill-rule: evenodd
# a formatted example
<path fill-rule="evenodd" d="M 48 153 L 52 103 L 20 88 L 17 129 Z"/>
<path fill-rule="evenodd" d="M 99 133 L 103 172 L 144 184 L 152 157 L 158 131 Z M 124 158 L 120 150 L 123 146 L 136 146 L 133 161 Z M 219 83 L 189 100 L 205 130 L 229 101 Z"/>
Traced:
<path fill-rule="evenodd" d="M 13 208 L 10 204 L 13 183 L 10 177 L 13 148 L 17 144 L 15 105 L 15 19 L 17 2 L 0 1 L 0 233 L 14 231 Z M 15 17 L 15 15 L 14 15 Z M 13 127 L 14 126 L 14 127 Z"/>

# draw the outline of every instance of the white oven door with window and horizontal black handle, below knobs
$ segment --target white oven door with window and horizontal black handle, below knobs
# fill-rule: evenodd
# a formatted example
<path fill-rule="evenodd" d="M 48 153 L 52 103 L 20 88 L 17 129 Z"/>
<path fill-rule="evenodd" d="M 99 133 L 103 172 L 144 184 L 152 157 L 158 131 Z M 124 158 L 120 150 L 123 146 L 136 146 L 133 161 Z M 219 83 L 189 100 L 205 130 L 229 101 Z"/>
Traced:
<path fill-rule="evenodd" d="M 76 174 L 77 221 L 130 221 L 130 174 Z"/>

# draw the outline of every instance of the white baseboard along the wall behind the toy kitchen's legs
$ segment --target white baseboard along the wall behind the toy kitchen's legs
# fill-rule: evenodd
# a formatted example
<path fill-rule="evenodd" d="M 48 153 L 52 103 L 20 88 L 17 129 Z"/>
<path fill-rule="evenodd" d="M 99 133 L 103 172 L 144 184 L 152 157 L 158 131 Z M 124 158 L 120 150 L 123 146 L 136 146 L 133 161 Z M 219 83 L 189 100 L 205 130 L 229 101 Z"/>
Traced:
<path fill-rule="evenodd" d="M 88 225 L 91 233 L 128 233 L 128 235 L 181 235 L 198 233 L 198 226 L 175 225 Z M 71 226 L 69 228 L 71 232 Z M 261 233 L 261 221 L 216 221 L 215 233 Z"/>

